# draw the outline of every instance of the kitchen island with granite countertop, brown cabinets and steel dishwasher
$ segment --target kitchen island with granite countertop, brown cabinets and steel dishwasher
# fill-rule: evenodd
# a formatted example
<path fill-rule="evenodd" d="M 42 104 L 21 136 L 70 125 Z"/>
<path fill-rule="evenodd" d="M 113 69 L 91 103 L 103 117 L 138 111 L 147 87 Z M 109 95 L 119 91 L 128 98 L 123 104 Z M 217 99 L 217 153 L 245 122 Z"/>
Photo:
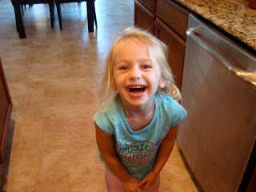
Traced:
<path fill-rule="evenodd" d="M 191 14 L 210 27 L 203 32 L 201 26 L 190 29 L 203 36 L 208 46 L 201 44 L 202 49 L 189 46 L 186 30 Z M 247 0 L 135 0 L 134 24 L 149 30 L 170 50 L 168 62 L 188 111 L 178 131 L 178 142 L 202 188 L 255 191 L 256 87 L 238 76 L 250 74 L 255 78 L 256 10 L 249 8 Z M 210 32 L 219 38 L 206 39 Z M 218 46 L 223 38 L 230 43 Z M 202 53 L 211 50 L 210 45 L 218 46 L 218 54 Z M 230 45 L 236 48 L 230 49 Z M 231 50 L 241 50 L 242 54 Z M 186 65 L 185 54 L 191 56 L 186 57 Z M 213 55 L 224 55 L 218 58 L 225 62 Z M 223 63 L 232 65 L 223 67 Z M 237 68 L 240 74 L 230 73 Z"/>

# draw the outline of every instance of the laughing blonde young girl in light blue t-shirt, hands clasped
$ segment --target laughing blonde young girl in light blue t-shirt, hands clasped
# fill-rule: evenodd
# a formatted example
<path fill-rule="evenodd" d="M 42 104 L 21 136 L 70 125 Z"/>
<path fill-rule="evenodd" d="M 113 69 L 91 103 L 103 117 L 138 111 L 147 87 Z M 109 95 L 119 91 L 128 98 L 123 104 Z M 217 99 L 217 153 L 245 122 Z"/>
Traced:
<path fill-rule="evenodd" d="M 94 116 L 108 192 L 152 191 L 173 149 L 186 110 L 167 62 L 166 45 L 127 28 L 107 58 L 100 97 L 114 94 Z"/>

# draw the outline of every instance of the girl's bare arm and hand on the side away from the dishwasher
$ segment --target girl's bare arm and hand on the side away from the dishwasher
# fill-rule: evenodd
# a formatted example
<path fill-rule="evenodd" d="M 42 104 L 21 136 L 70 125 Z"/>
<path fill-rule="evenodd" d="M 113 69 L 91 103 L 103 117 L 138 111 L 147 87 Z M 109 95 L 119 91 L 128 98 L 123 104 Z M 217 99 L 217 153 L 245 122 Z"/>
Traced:
<path fill-rule="evenodd" d="M 120 162 L 117 154 L 114 150 L 114 141 L 112 136 L 106 134 L 101 128 L 98 127 L 96 123 L 96 142 L 98 145 L 98 150 L 102 154 L 102 158 L 106 162 L 109 169 L 122 181 L 126 192 L 136 191 L 141 192 L 138 187 L 138 178 L 132 177 L 124 166 Z"/>

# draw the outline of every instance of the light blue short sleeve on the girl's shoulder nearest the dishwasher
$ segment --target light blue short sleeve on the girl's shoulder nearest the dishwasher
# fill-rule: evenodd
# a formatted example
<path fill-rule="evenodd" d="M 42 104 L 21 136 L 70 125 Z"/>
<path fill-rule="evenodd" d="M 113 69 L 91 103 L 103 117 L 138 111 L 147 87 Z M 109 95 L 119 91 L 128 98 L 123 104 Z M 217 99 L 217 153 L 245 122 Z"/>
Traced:
<path fill-rule="evenodd" d="M 170 127 L 178 126 L 187 115 L 186 110 L 180 105 L 176 100 L 172 100 L 171 105 L 171 115 L 170 115 Z"/>

